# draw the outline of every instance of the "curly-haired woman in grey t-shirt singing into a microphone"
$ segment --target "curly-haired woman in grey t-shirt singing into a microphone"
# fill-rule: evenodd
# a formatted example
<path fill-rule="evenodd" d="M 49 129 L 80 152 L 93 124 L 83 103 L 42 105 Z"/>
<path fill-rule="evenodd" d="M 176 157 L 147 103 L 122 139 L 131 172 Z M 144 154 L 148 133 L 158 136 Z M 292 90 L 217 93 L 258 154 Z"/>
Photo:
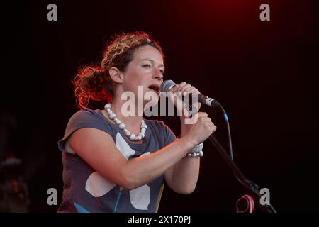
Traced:
<path fill-rule="evenodd" d="M 58 142 L 63 162 L 63 201 L 58 212 L 157 212 L 164 181 L 174 192 L 196 187 L 201 144 L 216 126 L 199 112 L 194 124 L 181 117 L 179 139 L 162 121 L 125 116 L 121 95 L 155 92 L 163 82 L 164 54 L 150 35 L 121 33 L 106 46 L 99 66 L 74 79 L 81 108 Z M 198 92 L 186 82 L 174 92 Z M 89 109 L 89 100 L 104 109 Z M 145 105 L 146 102 L 143 102 Z M 138 104 L 136 104 L 138 106 Z M 199 149 L 199 150 L 198 150 Z"/>

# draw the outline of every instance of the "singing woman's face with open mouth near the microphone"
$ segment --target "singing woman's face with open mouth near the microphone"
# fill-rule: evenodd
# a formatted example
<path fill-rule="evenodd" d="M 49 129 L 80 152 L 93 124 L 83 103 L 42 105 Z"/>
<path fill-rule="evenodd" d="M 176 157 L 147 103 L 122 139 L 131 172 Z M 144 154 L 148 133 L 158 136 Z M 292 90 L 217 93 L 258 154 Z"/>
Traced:
<path fill-rule="evenodd" d="M 133 60 L 123 72 L 123 92 L 133 92 L 139 100 L 144 97 L 146 92 L 153 92 L 153 94 L 157 94 L 158 101 L 163 73 L 162 54 L 150 45 L 140 47 L 135 51 Z M 138 86 L 142 86 L 142 92 L 138 93 Z M 140 97 L 141 93 L 142 97 Z"/>

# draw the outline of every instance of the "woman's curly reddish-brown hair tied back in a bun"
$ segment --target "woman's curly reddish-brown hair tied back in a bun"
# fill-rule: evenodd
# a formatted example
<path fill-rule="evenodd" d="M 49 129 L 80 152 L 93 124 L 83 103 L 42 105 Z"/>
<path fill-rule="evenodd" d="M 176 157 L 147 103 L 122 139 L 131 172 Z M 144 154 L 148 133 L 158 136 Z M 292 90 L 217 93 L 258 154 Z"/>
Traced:
<path fill-rule="evenodd" d="M 111 67 L 125 72 L 133 60 L 133 54 L 138 48 L 150 45 L 161 52 L 162 48 L 150 35 L 142 31 L 119 33 L 114 35 L 103 51 L 101 66 L 88 65 L 82 67 L 72 81 L 77 106 L 86 109 L 90 100 L 105 103 L 111 102 L 114 96 L 113 81 L 108 74 Z"/>

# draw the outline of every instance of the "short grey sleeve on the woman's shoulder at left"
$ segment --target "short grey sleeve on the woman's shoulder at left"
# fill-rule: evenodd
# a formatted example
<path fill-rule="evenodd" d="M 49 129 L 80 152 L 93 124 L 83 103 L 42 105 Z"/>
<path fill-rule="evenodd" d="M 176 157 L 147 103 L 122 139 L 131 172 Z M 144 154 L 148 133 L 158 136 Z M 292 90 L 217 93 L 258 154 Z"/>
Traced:
<path fill-rule="evenodd" d="M 65 151 L 65 142 L 74 131 L 80 128 L 97 128 L 111 135 L 111 128 L 94 111 L 80 110 L 69 118 L 64 137 L 57 142 L 60 151 Z"/>

